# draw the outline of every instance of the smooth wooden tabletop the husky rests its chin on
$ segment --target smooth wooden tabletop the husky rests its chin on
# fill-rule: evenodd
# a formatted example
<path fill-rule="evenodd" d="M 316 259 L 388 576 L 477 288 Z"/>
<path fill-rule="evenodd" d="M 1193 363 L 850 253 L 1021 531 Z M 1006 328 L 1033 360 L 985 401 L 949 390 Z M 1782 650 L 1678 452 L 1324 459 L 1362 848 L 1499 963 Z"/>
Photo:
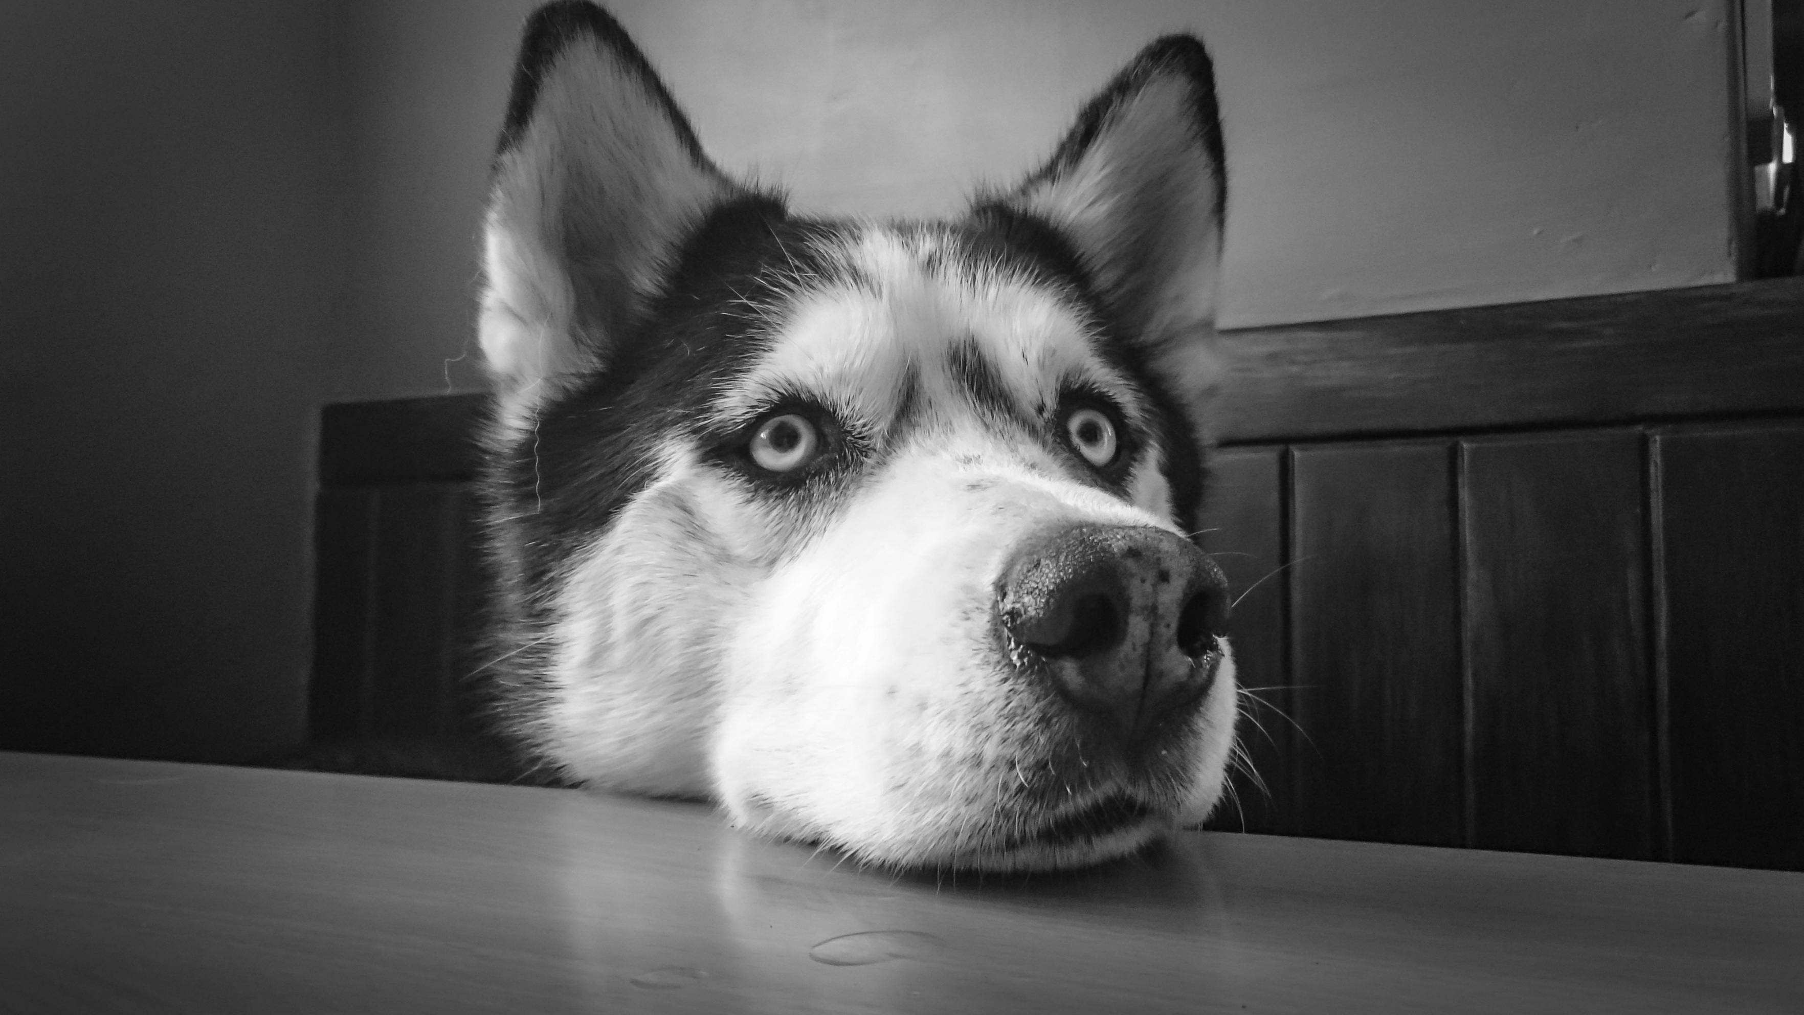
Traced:
<path fill-rule="evenodd" d="M 1804 1011 L 1804 874 L 1185 833 L 897 878 L 705 808 L 0 754 L 0 1011 Z"/>

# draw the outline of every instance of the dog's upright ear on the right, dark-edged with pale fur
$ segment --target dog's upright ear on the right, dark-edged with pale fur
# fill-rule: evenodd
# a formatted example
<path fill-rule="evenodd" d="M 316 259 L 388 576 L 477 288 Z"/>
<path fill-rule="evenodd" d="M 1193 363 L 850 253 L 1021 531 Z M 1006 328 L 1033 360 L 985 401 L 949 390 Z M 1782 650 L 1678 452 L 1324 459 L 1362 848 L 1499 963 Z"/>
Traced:
<path fill-rule="evenodd" d="M 1039 171 L 980 198 L 978 211 L 999 204 L 1050 222 L 1126 337 L 1155 366 L 1191 375 L 1174 361 L 1192 359 L 1180 346 L 1196 343 L 1182 339 L 1214 325 L 1225 198 L 1209 50 L 1196 38 L 1165 36 L 1082 108 Z"/>

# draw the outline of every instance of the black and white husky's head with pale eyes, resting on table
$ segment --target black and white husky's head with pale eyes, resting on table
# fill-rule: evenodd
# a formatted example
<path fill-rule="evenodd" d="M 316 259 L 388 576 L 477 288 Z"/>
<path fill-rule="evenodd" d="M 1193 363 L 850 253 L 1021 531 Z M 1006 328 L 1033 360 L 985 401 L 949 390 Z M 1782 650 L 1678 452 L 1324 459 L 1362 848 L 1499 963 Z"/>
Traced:
<path fill-rule="evenodd" d="M 480 315 L 518 732 L 897 867 L 1201 820 L 1236 714 L 1187 537 L 1221 207 L 1191 38 L 1021 186 L 870 224 L 729 178 L 612 18 L 541 9 Z"/>

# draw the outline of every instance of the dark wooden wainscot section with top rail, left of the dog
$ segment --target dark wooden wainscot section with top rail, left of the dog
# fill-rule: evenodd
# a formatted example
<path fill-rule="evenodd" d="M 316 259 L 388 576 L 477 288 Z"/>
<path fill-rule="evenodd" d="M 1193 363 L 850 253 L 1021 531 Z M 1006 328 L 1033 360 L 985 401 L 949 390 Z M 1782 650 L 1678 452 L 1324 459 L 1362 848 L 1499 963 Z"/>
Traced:
<path fill-rule="evenodd" d="M 327 406 L 310 730 L 431 741 L 482 728 L 480 395 Z"/>

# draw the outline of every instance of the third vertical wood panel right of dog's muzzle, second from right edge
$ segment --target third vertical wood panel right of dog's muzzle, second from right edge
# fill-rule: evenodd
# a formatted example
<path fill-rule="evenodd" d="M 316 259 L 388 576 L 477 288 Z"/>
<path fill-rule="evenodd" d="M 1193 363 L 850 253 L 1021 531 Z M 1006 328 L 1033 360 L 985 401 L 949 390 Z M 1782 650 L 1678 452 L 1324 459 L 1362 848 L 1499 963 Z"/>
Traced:
<path fill-rule="evenodd" d="M 1472 846 L 1652 858 L 1643 436 L 1461 442 Z"/>

